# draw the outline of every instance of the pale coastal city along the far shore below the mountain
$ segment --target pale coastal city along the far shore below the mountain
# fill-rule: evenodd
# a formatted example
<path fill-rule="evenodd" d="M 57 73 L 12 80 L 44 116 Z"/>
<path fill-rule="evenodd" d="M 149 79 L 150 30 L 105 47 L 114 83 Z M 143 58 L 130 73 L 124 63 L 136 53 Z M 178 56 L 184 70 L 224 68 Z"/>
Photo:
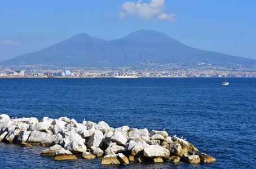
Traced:
<path fill-rule="evenodd" d="M 65 70 L 67 68 L 67 70 Z M 256 77 L 256 65 L 186 60 L 171 64 L 140 63 L 127 66 L 72 67 L 65 64 L 1 66 L 0 77 Z"/>

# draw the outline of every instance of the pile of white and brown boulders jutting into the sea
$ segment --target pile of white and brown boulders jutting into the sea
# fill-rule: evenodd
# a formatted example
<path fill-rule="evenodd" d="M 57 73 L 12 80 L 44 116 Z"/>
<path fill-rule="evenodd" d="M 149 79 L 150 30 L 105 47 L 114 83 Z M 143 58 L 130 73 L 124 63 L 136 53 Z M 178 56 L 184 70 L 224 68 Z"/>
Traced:
<path fill-rule="evenodd" d="M 54 160 L 101 158 L 101 164 L 129 164 L 129 162 L 215 162 L 211 155 L 198 153 L 188 141 L 169 136 L 166 131 L 122 126 L 109 127 L 103 121 L 77 123 L 74 119 L 44 117 L 10 119 L 0 115 L 0 141 L 23 146 L 50 146 L 41 155 Z"/>

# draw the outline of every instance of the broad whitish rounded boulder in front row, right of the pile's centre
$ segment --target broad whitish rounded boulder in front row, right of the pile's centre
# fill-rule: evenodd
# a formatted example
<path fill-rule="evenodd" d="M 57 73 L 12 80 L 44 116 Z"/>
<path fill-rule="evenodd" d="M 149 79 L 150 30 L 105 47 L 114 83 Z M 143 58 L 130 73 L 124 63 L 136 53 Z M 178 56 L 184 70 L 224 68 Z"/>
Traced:
<path fill-rule="evenodd" d="M 145 158 L 169 158 L 170 151 L 160 145 L 148 145 L 143 149 L 143 156 Z"/>

